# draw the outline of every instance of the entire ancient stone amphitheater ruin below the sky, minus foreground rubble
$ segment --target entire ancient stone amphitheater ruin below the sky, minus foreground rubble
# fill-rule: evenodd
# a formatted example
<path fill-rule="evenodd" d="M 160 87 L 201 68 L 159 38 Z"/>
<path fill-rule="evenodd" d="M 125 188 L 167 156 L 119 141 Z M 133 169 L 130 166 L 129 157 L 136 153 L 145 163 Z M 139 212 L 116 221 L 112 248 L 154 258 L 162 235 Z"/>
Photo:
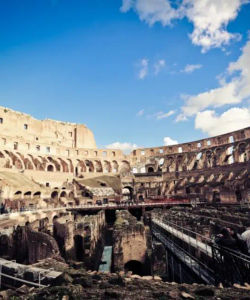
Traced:
<path fill-rule="evenodd" d="M 119 274 L 116 288 L 157 279 L 247 293 L 248 241 L 237 249 L 218 237 L 250 239 L 249 141 L 244 128 L 125 155 L 98 149 L 85 125 L 0 107 L 0 287 L 20 296 L 25 285 L 29 297 L 31 286 L 99 270 Z M 73 269 L 82 271 L 67 281 Z"/>

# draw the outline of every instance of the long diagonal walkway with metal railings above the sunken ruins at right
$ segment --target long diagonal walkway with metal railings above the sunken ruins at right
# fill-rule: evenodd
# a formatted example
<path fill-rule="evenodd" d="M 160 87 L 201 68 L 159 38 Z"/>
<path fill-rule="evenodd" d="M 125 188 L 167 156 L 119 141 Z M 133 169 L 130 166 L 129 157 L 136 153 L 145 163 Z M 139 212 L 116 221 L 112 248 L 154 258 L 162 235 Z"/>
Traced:
<path fill-rule="evenodd" d="M 198 268 L 202 279 L 204 279 L 203 275 L 207 273 L 209 276 L 213 276 L 215 283 L 223 283 L 225 286 L 250 282 L 250 256 L 220 247 L 211 238 L 168 220 L 162 221 L 159 218 L 153 218 L 152 232 L 164 242 L 165 246 L 168 243 L 168 249 L 175 255 L 181 251 L 183 263 L 195 273 L 197 273 L 195 269 Z M 192 248 L 199 250 L 203 255 L 198 257 Z M 189 259 L 186 258 L 187 256 Z"/>

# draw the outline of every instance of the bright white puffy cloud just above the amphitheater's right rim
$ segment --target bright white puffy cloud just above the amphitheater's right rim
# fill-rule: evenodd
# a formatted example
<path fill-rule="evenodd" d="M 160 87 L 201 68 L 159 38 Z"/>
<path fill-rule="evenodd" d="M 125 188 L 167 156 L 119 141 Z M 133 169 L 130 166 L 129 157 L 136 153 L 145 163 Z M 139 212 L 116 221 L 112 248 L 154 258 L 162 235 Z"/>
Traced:
<path fill-rule="evenodd" d="M 221 115 L 214 110 L 199 112 L 195 118 L 195 128 L 209 136 L 215 136 L 250 126 L 250 109 L 233 107 Z"/>

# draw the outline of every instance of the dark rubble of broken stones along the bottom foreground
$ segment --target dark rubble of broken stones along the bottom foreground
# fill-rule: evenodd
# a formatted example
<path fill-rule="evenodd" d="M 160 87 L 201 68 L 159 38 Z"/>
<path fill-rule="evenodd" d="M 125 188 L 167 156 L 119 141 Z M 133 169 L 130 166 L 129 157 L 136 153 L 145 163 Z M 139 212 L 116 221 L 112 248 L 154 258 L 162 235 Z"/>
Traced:
<path fill-rule="evenodd" d="M 60 266 L 61 267 L 61 266 Z M 22 286 L 0 292 L 2 299 L 250 299 L 250 285 L 216 288 L 205 285 L 162 282 L 160 277 L 86 271 L 67 268 L 54 285 L 43 289 Z"/>

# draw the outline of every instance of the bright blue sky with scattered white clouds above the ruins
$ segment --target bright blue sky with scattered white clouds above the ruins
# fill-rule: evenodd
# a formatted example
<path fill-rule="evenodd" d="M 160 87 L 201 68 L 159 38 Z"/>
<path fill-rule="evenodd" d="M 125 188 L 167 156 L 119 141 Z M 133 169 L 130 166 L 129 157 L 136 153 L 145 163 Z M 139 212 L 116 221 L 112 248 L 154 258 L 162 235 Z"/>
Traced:
<path fill-rule="evenodd" d="M 245 0 L 0 0 L 0 14 L 2 106 L 122 149 L 250 125 Z"/>

